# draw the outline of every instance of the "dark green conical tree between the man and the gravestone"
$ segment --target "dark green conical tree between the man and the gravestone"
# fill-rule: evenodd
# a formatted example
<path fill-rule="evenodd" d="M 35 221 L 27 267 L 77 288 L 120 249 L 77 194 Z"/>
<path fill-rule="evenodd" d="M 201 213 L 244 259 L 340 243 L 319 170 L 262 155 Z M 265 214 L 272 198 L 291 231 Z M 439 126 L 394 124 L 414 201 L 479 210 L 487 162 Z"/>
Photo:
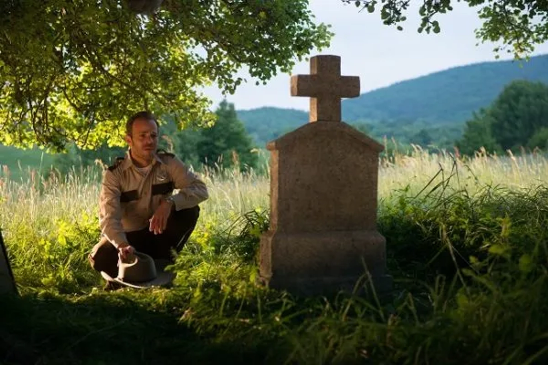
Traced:
<path fill-rule="evenodd" d="M 237 159 L 242 169 L 246 166 L 255 168 L 258 157 L 252 152 L 252 139 L 238 120 L 234 105 L 224 100 L 215 114 L 218 118 L 215 125 L 202 129 L 197 142 L 201 163 L 214 166 L 220 161 L 222 167 L 231 167 Z"/>

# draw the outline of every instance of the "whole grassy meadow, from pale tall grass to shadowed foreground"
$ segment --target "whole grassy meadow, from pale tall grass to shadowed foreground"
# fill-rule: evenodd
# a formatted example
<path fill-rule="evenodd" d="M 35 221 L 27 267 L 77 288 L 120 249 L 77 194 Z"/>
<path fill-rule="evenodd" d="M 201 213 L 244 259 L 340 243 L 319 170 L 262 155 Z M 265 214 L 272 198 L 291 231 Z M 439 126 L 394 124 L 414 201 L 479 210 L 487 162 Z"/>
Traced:
<path fill-rule="evenodd" d="M 103 292 L 99 168 L 0 176 L 20 297 L 0 299 L 3 363 L 517 364 L 548 361 L 548 160 L 382 158 L 380 232 L 392 298 L 299 298 L 256 284 L 269 180 L 206 170 L 210 199 L 172 289 Z"/>

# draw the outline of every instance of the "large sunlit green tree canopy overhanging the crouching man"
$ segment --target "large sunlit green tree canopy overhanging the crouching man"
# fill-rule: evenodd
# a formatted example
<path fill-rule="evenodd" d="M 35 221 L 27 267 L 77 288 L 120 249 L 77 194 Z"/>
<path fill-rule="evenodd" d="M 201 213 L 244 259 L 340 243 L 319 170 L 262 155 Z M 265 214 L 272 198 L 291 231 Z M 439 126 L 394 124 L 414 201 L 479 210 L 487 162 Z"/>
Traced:
<path fill-rule="evenodd" d="M 265 83 L 333 35 L 306 0 L 145 3 L 0 2 L 0 143 L 119 146 L 141 109 L 173 115 L 181 128 L 211 124 L 202 86 L 232 93 L 241 69 Z"/>

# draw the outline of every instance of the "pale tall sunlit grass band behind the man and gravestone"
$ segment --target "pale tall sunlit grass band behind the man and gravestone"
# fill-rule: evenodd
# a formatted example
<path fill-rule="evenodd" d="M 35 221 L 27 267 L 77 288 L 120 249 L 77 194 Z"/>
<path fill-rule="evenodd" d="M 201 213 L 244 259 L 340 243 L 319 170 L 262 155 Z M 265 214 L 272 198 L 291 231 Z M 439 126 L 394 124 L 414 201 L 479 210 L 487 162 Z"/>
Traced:
<path fill-rule="evenodd" d="M 485 152 L 471 159 L 455 158 L 454 154 L 427 153 L 416 147 L 410 155 L 381 156 L 379 163 L 379 199 L 390 198 L 396 191 L 409 186 L 409 194 L 417 193 L 438 175 L 441 180 L 454 174 L 452 186 L 459 185 L 469 193 L 485 186 L 528 188 L 548 181 L 548 159 L 543 154 L 496 156 Z M 0 172 L 0 219 L 5 234 L 13 222 L 25 224 L 55 219 L 76 218 L 86 212 L 96 215 L 98 209 L 100 166 L 73 169 L 60 177 L 55 171 L 23 169 L 19 179 L 10 179 L 4 166 Z M 269 207 L 269 177 L 255 170 L 205 169 L 201 177 L 206 182 L 210 198 L 202 204 L 206 221 L 226 221 L 233 215 Z"/>

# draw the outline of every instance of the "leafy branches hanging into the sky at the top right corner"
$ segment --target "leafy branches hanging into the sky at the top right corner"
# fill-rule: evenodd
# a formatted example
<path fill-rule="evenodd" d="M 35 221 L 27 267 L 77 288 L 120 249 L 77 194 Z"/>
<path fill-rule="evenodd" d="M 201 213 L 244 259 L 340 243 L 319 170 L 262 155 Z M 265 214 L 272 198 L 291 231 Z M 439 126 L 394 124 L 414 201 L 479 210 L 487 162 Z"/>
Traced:
<path fill-rule="evenodd" d="M 379 9 L 386 25 L 396 25 L 403 30 L 407 20 L 410 0 L 341 0 L 354 3 L 356 7 L 374 13 Z M 457 0 L 460 2 L 460 0 Z M 548 2 L 535 0 L 463 0 L 470 7 L 479 7 L 478 15 L 483 20 L 476 30 L 482 42 L 500 42 L 494 49 L 496 56 L 501 50 L 513 53 L 515 58 L 528 56 L 535 44 L 548 40 Z M 419 8 L 421 19 L 418 32 L 439 33 L 441 26 L 436 20 L 439 14 L 453 10 L 455 0 L 423 0 Z"/>

